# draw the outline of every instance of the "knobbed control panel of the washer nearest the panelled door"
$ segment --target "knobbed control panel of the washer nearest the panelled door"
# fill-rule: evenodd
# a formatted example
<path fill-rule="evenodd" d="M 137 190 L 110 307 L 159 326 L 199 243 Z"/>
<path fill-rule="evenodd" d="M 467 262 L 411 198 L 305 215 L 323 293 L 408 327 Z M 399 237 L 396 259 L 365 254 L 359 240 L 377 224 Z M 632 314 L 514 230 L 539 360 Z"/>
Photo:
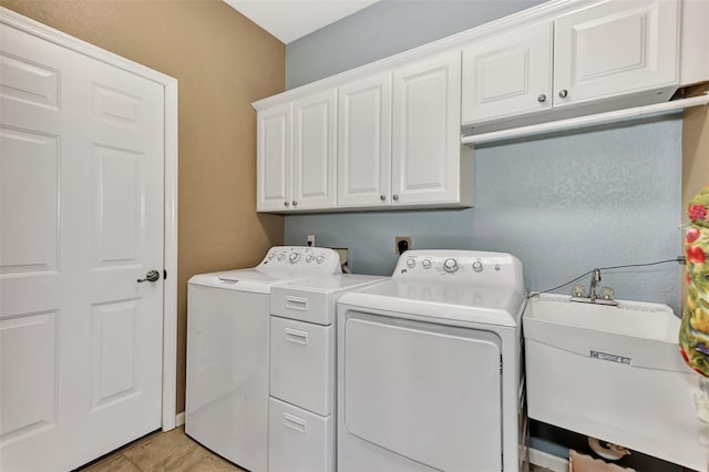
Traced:
<path fill-rule="evenodd" d="M 327 247 L 274 246 L 258 265 L 263 270 L 298 274 L 341 274 L 339 255 Z"/>

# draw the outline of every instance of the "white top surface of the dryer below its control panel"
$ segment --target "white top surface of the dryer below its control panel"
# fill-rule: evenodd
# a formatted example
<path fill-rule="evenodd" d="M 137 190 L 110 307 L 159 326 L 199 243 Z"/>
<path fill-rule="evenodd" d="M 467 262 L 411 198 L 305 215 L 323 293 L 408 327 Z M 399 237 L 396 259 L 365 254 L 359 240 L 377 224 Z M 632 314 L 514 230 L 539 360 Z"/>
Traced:
<path fill-rule="evenodd" d="M 387 280 L 348 291 L 338 305 L 461 322 L 517 326 L 525 294 L 494 287 Z"/>

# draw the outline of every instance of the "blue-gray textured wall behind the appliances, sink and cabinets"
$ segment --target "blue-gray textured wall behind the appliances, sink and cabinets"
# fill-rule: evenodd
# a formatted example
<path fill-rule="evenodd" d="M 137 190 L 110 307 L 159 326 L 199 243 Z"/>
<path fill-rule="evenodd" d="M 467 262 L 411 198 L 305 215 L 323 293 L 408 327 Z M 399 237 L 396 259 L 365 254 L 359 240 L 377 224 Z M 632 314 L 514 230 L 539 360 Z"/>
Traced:
<path fill-rule="evenodd" d="M 400 17 L 391 17 L 402 19 L 397 20 L 395 30 L 413 43 L 419 31 L 400 23 L 409 24 L 404 20 L 414 12 L 430 14 L 420 3 L 451 8 L 450 2 L 387 0 L 376 7 L 399 9 Z M 496 12 L 492 3 L 508 10 L 528 4 L 461 3 L 473 3 L 489 14 Z M 351 20 L 358 31 L 364 28 L 362 18 L 370 18 L 370 9 Z M 483 17 L 490 19 L 481 13 Z M 444 21 L 438 18 L 442 30 Z M 456 31 L 460 18 L 452 18 L 451 23 Z M 379 28 L 378 21 L 376 24 Z M 325 54 L 326 45 L 342 44 L 347 51 L 347 44 L 358 42 L 361 48 L 349 65 L 367 55 L 371 60 L 381 57 L 381 48 L 359 42 L 361 35 L 351 29 L 348 19 L 341 20 L 297 41 L 302 44 L 294 44 L 288 55 L 296 49 L 302 53 L 299 48 L 308 44 L 328 43 L 317 49 Z M 425 40 L 428 34 L 421 42 Z M 388 44 L 384 41 L 381 47 Z M 347 62 L 342 55 L 325 54 L 319 61 L 342 64 Z M 327 66 L 318 72 L 312 69 L 307 62 L 288 62 L 289 76 L 327 75 Z M 319 246 L 349 247 L 354 271 L 376 275 L 391 274 L 397 235 L 411 236 L 414 248 L 507 252 L 522 260 L 530 290 L 555 287 L 594 267 L 650 263 L 681 254 L 680 114 L 477 146 L 475 173 L 469 178 L 475 185 L 474 208 L 287 216 L 285 243 L 301 245 L 306 235 L 315 234 Z M 603 273 L 602 285 L 614 287 L 618 298 L 664 302 L 678 312 L 679 278 L 679 265 L 664 264 Z M 569 288 L 557 291 L 568 293 Z"/>

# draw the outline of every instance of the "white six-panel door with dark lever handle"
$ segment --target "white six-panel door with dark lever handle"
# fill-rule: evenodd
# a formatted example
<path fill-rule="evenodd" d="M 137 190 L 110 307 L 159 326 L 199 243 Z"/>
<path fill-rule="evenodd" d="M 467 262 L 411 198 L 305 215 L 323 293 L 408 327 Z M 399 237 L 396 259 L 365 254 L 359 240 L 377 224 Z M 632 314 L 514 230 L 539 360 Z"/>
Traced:
<path fill-rule="evenodd" d="M 161 427 L 164 90 L 0 34 L 0 469 L 70 470 Z"/>

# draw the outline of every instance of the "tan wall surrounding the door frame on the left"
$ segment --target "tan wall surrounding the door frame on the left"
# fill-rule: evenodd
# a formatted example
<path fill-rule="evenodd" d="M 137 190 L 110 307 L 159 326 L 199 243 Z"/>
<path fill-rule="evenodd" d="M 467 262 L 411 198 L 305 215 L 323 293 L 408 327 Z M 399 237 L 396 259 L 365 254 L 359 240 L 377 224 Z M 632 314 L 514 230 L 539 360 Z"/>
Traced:
<path fill-rule="evenodd" d="M 282 244 L 282 217 L 256 214 L 250 102 L 284 90 L 286 47 L 220 0 L 0 4 L 178 80 L 177 412 L 183 411 L 186 280 L 254 266 L 268 247 Z"/>

